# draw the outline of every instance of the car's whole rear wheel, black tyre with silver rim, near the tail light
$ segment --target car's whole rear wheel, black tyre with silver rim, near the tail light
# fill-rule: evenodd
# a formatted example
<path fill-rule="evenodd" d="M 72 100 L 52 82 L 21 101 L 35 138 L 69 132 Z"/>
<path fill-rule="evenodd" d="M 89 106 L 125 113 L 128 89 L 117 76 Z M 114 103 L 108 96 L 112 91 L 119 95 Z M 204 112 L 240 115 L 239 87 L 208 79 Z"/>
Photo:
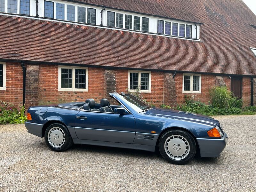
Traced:
<path fill-rule="evenodd" d="M 44 140 L 53 151 L 65 151 L 73 144 L 68 129 L 59 123 L 54 123 L 47 127 Z"/>

